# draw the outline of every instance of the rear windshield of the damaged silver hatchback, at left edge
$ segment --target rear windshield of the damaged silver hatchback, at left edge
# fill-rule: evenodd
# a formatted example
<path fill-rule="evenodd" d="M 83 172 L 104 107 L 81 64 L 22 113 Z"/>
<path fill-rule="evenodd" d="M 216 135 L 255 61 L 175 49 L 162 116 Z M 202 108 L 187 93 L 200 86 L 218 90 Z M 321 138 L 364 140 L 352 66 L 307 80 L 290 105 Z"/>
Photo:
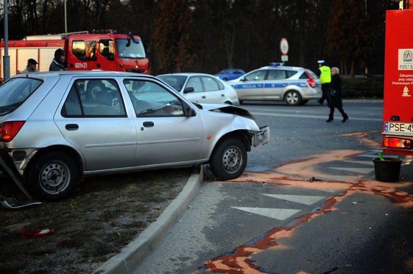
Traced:
<path fill-rule="evenodd" d="M 0 115 L 6 115 L 19 107 L 40 85 L 41 80 L 12 78 L 0 86 Z"/>

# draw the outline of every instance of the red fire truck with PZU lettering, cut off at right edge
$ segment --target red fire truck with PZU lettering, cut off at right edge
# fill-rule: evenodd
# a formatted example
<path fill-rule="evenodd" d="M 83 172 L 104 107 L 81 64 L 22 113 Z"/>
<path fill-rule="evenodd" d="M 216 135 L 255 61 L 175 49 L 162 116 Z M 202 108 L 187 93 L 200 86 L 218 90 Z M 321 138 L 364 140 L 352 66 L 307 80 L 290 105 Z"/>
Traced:
<path fill-rule="evenodd" d="M 381 145 L 413 155 L 413 0 L 399 3 L 400 10 L 386 11 Z"/>

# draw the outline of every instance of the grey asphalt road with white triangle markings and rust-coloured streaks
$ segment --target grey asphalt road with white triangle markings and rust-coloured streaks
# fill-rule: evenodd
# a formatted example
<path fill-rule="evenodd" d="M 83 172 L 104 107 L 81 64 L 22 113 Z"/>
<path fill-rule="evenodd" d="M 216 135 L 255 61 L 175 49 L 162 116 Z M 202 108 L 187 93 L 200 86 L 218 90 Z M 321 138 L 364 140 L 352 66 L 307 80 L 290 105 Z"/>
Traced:
<path fill-rule="evenodd" d="M 412 157 L 398 182 L 375 180 L 381 101 L 245 104 L 270 142 L 246 172 L 199 194 L 138 273 L 413 273 Z M 396 156 L 396 155 L 389 155 Z M 313 180 L 312 178 L 314 177 Z"/>

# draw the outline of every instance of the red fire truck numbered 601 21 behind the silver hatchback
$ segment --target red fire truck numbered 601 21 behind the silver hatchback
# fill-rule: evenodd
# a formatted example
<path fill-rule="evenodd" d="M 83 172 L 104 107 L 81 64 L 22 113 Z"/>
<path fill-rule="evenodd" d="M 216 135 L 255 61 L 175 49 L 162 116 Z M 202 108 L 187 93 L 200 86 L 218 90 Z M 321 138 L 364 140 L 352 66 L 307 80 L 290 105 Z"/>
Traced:
<path fill-rule="evenodd" d="M 23 71 L 27 60 L 35 59 L 39 71 L 48 71 L 56 49 L 64 49 L 69 70 L 127 71 L 149 74 L 149 60 L 139 36 L 105 33 L 64 33 L 28 36 L 23 40 L 8 41 L 10 76 Z M 4 55 L 4 41 L 0 43 Z M 3 64 L 0 61 L 1 78 Z"/>

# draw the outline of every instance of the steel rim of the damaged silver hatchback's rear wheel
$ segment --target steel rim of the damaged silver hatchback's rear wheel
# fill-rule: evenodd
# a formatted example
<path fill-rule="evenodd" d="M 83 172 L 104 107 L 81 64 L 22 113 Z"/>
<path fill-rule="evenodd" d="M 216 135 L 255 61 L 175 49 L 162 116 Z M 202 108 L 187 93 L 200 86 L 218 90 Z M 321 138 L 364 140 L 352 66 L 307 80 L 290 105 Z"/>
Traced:
<path fill-rule="evenodd" d="M 45 165 L 39 174 L 42 189 L 50 194 L 62 192 L 70 181 L 69 168 L 62 162 L 52 162 Z"/>

